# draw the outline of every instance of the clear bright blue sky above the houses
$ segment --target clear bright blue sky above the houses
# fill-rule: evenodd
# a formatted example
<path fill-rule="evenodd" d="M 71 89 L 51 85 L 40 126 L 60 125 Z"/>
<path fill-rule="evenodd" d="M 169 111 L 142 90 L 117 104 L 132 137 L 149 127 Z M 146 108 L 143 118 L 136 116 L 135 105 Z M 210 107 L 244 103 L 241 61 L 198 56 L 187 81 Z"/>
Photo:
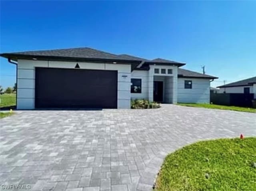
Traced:
<path fill-rule="evenodd" d="M 218 76 L 256 76 L 256 1 L 0 1 L 0 52 L 91 47 L 166 58 Z M 0 59 L 0 85 L 16 66 Z"/>

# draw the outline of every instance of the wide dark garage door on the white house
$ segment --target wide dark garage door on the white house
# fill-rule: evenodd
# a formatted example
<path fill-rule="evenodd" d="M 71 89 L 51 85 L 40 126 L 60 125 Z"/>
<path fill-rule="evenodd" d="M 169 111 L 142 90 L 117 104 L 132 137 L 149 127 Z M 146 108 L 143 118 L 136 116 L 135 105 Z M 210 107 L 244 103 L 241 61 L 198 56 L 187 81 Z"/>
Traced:
<path fill-rule="evenodd" d="M 36 108 L 117 108 L 117 71 L 36 68 Z"/>

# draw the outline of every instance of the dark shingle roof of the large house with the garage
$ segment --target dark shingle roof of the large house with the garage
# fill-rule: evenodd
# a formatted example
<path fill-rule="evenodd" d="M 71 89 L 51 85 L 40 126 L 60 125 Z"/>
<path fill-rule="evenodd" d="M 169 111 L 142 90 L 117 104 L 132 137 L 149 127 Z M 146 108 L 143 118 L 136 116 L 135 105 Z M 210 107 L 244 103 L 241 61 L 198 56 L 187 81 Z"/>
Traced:
<path fill-rule="evenodd" d="M 175 65 L 175 66 L 184 66 L 185 63 L 175 62 L 171 60 L 166 60 L 162 58 L 156 58 L 154 60 L 147 60 L 145 58 L 140 58 L 136 56 L 131 56 L 128 54 L 111 54 L 108 52 L 92 49 L 92 48 L 68 48 L 68 49 L 57 49 L 57 50 L 39 50 L 39 51 L 26 51 L 26 52 L 12 52 L 12 53 L 3 53 L 0 56 L 4 58 L 10 58 L 12 60 L 18 59 L 32 59 L 37 58 L 38 60 L 90 60 L 90 61 L 109 61 L 109 62 L 128 62 L 132 64 L 132 70 L 148 70 L 149 65 L 158 64 L 158 65 Z M 142 66 L 137 68 L 142 62 Z M 215 79 L 214 76 L 200 74 L 198 72 L 193 72 L 190 70 L 184 70 L 178 68 L 178 77 L 191 77 L 191 78 L 210 78 Z"/>

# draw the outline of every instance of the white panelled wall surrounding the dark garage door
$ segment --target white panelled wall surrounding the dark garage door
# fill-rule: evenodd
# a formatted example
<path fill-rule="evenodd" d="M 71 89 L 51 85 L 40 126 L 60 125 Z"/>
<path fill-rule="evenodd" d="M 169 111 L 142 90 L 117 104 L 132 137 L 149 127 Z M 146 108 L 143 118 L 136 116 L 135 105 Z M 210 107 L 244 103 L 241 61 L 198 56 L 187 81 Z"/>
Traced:
<path fill-rule="evenodd" d="M 18 60 L 17 72 L 17 109 L 34 109 L 35 99 L 35 67 L 72 68 L 76 63 L 80 69 L 117 70 L 118 95 L 117 107 L 130 108 L 131 66 L 129 64 L 100 64 L 88 62 L 60 62 L 39 60 Z M 79 70 L 79 69 L 78 69 Z M 125 77 L 127 76 L 127 77 Z"/>

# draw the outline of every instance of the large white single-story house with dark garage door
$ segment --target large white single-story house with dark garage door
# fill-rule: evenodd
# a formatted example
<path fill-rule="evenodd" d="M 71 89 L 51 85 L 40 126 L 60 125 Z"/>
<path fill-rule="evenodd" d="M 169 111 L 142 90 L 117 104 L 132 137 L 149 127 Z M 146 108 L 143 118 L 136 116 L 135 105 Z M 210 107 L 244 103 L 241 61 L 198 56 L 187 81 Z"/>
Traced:
<path fill-rule="evenodd" d="M 130 99 L 209 103 L 214 76 L 184 63 L 92 48 L 0 54 L 17 65 L 17 109 L 130 108 Z"/>

